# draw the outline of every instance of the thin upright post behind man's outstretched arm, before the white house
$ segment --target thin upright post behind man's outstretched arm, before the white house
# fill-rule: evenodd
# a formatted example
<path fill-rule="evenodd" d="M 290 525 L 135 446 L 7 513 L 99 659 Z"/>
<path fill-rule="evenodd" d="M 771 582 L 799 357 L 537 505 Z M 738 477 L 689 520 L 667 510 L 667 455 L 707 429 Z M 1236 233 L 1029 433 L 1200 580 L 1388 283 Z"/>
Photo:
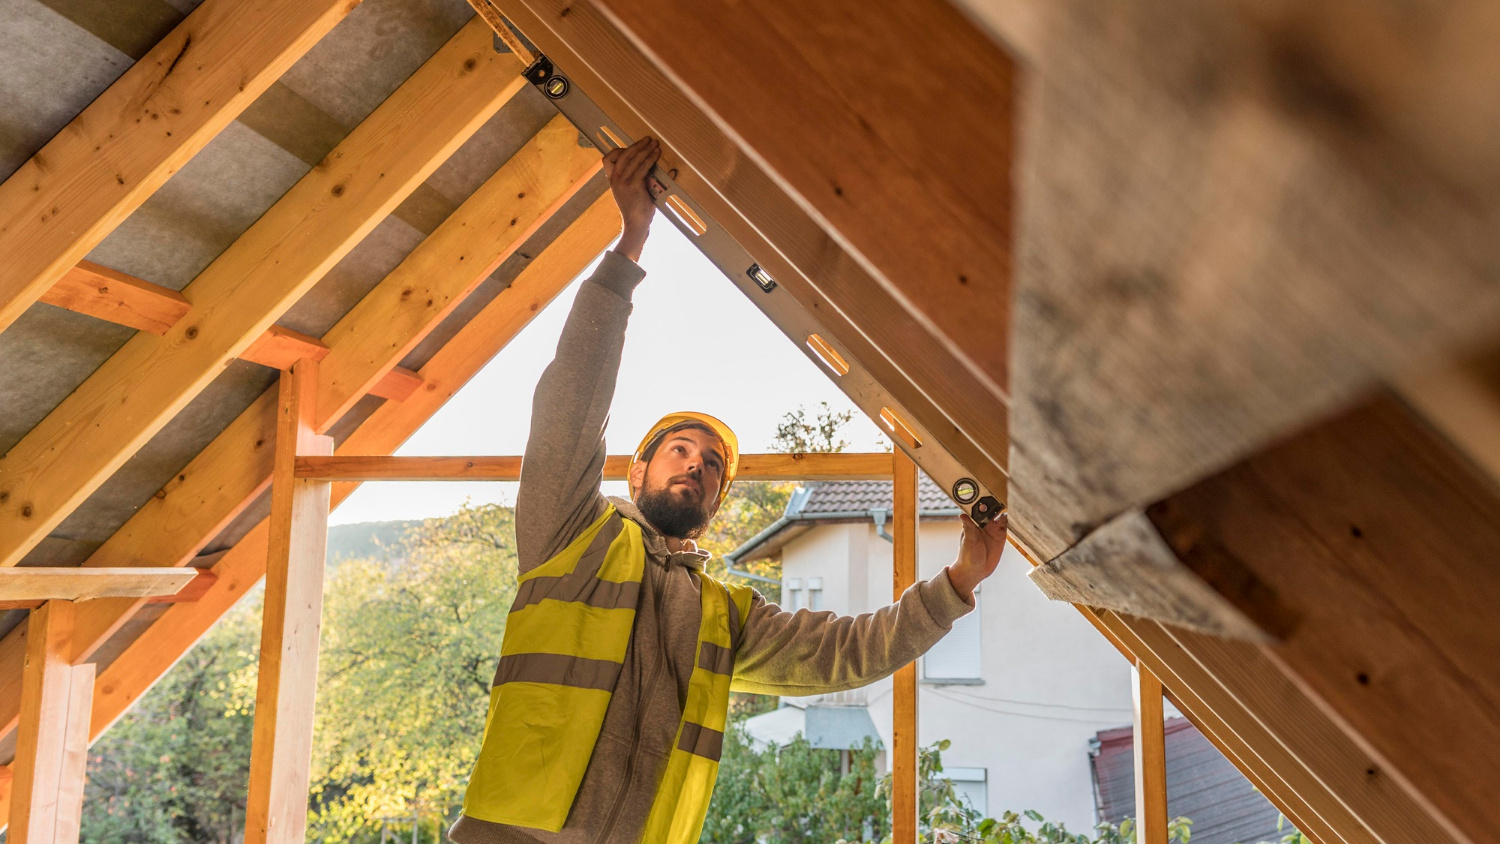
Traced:
<path fill-rule="evenodd" d="M 904 451 L 896 450 L 894 495 L 891 501 L 891 537 L 894 565 L 892 595 L 902 594 L 916 582 L 916 463 Z M 902 666 L 896 672 L 894 726 L 891 729 L 891 843 L 916 843 L 916 663 Z"/>

